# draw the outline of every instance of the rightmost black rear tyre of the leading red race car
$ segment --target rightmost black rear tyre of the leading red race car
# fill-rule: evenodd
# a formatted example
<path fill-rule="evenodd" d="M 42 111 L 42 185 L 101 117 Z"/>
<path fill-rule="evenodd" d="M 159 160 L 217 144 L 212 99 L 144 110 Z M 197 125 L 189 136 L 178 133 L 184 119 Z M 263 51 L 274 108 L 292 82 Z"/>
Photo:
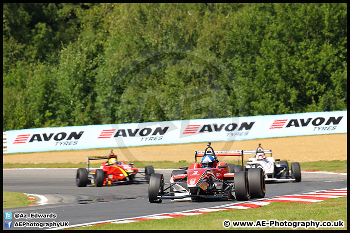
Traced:
<path fill-rule="evenodd" d="M 248 170 L 249 193 L 251 198 L 265 197 L 265 177 L 262 168 Z"/>

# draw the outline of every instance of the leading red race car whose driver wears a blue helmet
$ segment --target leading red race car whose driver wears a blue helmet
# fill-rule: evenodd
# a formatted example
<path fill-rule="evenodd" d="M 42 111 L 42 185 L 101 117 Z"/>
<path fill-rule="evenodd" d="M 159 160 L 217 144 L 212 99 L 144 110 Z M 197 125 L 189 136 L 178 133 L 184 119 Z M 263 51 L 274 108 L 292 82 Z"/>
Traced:
<path fill-rule="evenodd" d="M 265 197 L 265 179 L 261 168 L 244 170 L 243 150 L 214 151 L 208 142 L 205 151 L 195 151 L 196 163 L 180 166 L 172 172 L 170 183 L 163 174 L 154 173 L 148 184 L 148 199 L 160 203 L 170 199 L 228 199 L 249 200 Z M 243 171 L 231 171 L 217 156 L 241 156 Z M 197 157 L 203 157 L 197 163 Z"/>

